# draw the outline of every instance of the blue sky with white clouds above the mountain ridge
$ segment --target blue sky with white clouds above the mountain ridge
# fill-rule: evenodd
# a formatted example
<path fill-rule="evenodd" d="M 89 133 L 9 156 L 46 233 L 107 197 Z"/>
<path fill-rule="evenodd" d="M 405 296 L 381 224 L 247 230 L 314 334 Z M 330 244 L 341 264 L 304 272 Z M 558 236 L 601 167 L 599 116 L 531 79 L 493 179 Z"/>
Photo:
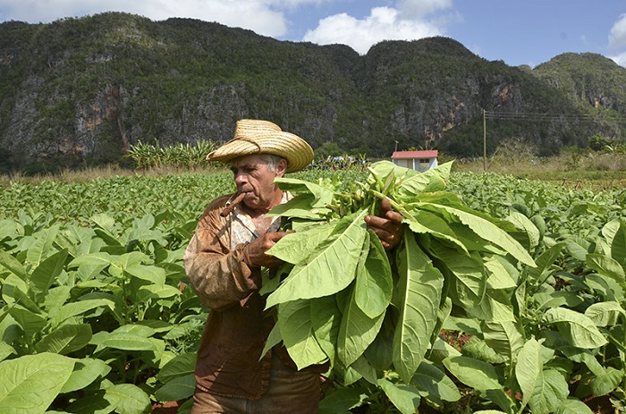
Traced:
<path fill-rule="evenodd" d="M 592 52 L 626 67 L 624 0 L 0 0 L 0 21 L 111 11 L 154 21 L 217 21 L 279 40 L 343 43 L 361 55 L 386 39 L 446 36 L 512 66 Z"/>

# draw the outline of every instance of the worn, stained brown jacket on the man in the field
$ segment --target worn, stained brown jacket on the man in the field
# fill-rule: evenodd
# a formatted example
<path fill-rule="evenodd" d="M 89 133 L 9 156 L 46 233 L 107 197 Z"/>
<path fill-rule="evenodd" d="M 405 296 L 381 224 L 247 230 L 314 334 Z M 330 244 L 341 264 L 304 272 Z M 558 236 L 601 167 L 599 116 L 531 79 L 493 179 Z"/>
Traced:
<path fill-rule="evenodd" d="M 258 294 L 260 268 L 246 263 L 247 243 L 232 246 L 233 221 L 239 210 L 226 217 L 220 215 L 232 196 L 208 205 L 183 258 L 193 289 L 210 308 L 198 352 L 196 381 L 208 393 L 257 400 L 269 385 L 272 352 L 294 368 L 295 364 L 282 346 L 260 359 L 274 319 L 264 312 L 265 299 Z M 277 230 L 275 224 L 270 231 Z"/>

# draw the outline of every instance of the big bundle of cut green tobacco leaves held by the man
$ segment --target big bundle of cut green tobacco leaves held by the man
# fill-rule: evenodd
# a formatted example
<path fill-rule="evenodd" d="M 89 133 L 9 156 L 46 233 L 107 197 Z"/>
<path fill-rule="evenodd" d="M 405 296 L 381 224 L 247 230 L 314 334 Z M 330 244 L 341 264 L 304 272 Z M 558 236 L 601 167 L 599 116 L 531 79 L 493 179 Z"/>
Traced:
<path fill-rule="evenodd" d="M 509 234 L 512 224 L 444 190 L 450 166 L 418 173 L 376 163 L 352 191 L 332 181 L 279 180 L 298 196 L 272 214 L 290 218 L 296 232 L 270 250 L 288 266 L 283 280 L 268 276 L 265 284 L 274 286 L 266 288 L 267 308 L 277 308 L 268 347 L 282 340 L 299 368 L 329 361 L 337 381 L 364 378 L 403 412 L 416 410 L 432 384 L 452 390 L 434 400 L 458 400 L 444 365 L 425 359 L 446 317 L 493 320 L 510 306 L 495 284 L 511 279 L 508 267 L 534 262 Z M 364 222 L 383 198 L 405 226 L 391 258 Z"/>

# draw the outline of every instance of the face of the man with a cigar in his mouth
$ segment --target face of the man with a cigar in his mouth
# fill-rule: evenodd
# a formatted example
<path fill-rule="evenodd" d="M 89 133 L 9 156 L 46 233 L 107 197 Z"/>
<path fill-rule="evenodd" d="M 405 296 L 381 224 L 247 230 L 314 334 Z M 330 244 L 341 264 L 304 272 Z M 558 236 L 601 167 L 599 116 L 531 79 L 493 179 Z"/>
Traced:
<path fill-rule="evenodd" d="M 270 170 L 261 156 L 242 156 L 231 163 L 234 182 L 239 192 L 245 192 L 243 202 L 251 210 L 266 210 L 275 207 L 282 193 L 274 184 L 276 177 L 282 177 L 287 165 L 281 160 Z"/>

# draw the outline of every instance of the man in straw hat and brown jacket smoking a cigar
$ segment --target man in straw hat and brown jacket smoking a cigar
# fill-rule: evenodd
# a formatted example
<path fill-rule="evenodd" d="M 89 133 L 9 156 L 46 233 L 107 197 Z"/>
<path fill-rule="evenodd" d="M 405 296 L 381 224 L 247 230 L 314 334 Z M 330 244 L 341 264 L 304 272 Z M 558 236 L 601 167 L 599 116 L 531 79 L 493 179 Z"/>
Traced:
<path fill-rule="evenodd" d="M 313 150 L 274 123 L 241 120 L 234 138 L 207 160 L 230 163 L 237 192 L 208 205 L 184 255 L 191 285 L 210 308 L 191 412 L 317 413 L 327 367 L 298 371 L 282 346 L 260 359 L 274 321 L 258 294 L 261 267 L 282 263 L 266 251 L 286 234 L 278 231 L 280 218 L 266 213 L 292 197 L 274 180 L 309 165 Z M 402 216 L 388 202 L 381 210 L 366 222 L 391 249 L 402 239 Z"/>

